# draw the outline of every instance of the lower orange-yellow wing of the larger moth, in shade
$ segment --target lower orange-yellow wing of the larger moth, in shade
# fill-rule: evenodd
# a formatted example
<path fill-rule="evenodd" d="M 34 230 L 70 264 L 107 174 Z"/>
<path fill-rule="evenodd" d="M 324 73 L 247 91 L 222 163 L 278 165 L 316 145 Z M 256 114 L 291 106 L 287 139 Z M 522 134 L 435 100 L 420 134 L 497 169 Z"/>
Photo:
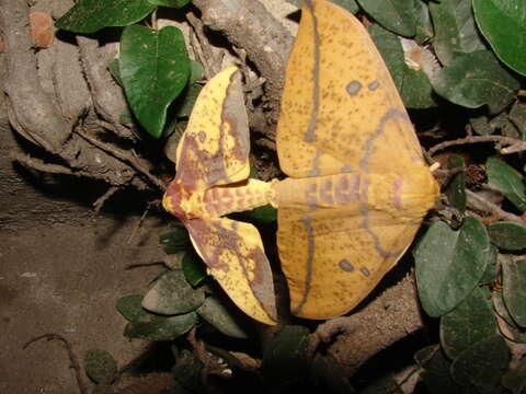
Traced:
<path fill-rule="evenodd" d="M 355 308 L 403 255 L 420 222 L 354 208 L 278 210 L 282 268 L 293 314 L 332 318 Z"/>

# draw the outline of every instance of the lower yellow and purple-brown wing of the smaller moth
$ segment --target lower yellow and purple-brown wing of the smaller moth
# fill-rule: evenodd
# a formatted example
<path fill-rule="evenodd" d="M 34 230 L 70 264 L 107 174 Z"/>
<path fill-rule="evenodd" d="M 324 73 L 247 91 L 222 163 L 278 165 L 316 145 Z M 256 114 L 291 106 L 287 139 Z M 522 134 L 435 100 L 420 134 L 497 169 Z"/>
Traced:
<path fill-rule="evenodd" d="M 227 218 L 185 221 L 192 243 L 211 276 L 249 316 L 276 324 L 274 282 L 258 230 Z"/>

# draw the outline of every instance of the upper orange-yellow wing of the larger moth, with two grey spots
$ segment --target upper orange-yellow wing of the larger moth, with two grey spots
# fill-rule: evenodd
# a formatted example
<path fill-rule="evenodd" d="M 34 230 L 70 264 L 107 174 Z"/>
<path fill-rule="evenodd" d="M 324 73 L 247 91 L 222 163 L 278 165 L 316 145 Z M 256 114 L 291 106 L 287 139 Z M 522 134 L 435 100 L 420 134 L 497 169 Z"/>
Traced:
<path fill-rule="evenodd" d="M 403 174 L 422 163 L 403 103 L 362 23 L 328 1 L 304 4 L 277 125 L 282 170 L 291 177 L 395 167 Z"/>

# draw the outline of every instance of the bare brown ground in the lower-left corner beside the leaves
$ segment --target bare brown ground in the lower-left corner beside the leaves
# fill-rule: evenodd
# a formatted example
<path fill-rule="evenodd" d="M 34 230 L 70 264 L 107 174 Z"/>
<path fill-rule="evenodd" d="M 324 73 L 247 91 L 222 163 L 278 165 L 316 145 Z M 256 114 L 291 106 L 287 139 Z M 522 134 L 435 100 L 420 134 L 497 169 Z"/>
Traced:
<path fill-rule="evenodd" d="M 152 264 L 162 257 L 157 242 L 162 229 L 147 220 L 128 243 L 137 221 L 92 219 L 0 231 L 0 392 L 78 392 L 62 344 L 39 340 L 23 349 L 46 333 L 62 335 L 80 358 L 104 349 L 124 364 L 147 350 L 148 341 L 123 336 L 125 321 L 115 310 L 119 297 L 144 293 L 161 269 Z"/>

